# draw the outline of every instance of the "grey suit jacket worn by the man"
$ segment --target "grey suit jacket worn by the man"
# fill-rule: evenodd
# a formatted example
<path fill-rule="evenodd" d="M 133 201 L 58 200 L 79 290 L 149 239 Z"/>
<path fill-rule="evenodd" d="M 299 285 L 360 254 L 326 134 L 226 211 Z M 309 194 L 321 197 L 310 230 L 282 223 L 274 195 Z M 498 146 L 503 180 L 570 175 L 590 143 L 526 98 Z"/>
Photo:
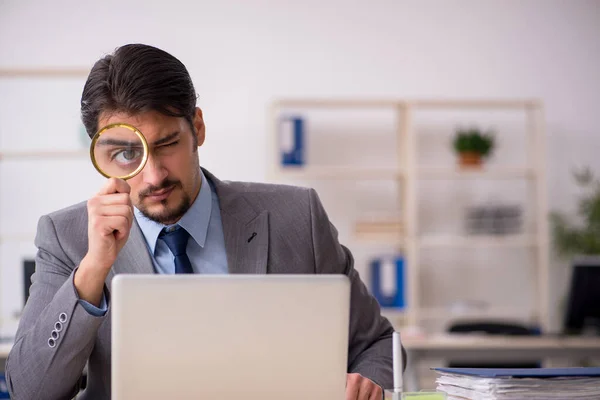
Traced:
<path fill-rule="evenodd" d="M 352 255 L 339 244 L 316 192 L 219 181 L 204 172 L 219 198 L 229 272 L 346 274 L 351 280 L 348 372 L 392 387 L 392 326 L 354 270 Z M 253 232 L 257 235 L 248 243 Z M 154 273 L 143 234 L 134 222 L 106 280 L 109 309 L 103 317 L 86 312 L 73 285 L 74 271 L 88 250 L 86 203 L 42 216 L 35 244 L 30 297 L 6 362 L 9 391 L 22 400 L 73 398 L 87 363 L 87 387 L 78 398 L 108 399 L 110 283 L 115 274 Z M 58 338 L 51 347 L 55 329 Z"/>

